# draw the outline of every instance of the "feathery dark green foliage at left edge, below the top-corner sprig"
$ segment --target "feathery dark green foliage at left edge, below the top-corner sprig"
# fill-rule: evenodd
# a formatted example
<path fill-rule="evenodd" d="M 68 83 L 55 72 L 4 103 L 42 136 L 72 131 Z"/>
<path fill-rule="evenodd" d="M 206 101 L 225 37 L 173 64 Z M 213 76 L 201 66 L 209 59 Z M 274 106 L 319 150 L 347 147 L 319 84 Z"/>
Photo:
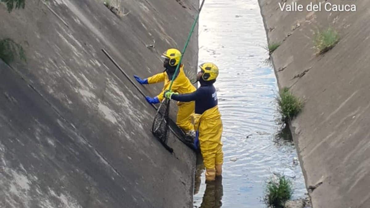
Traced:
<path fill-rule="evenodd" d="M 4 38 L 0 40 L 0 58 L 7 64 L 10 64 L 16 58 L 19 57 L 20 60 L 26 60 L 26 54 L 24 53 L 23 47 L 14 42 L 11 38 Z"/>

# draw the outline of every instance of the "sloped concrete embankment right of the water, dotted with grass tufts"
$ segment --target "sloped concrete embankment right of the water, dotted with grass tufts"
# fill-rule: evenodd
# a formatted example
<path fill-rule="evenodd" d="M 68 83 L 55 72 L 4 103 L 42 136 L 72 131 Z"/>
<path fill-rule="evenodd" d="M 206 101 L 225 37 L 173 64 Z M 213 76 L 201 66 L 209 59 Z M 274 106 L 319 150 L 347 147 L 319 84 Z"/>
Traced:
<path fill-rule="evenodd" d="M 330 1 L 356 12 L 282 12 L 279 2 L 259 0 L 269 43 L 282 43 L 271 55 L 279 88 L 305 103 L 291 127 L 313 207 L 368 208 L 370 2 Z M 340 41 L 316 55 L 313 33 L 327 27 Z"/>

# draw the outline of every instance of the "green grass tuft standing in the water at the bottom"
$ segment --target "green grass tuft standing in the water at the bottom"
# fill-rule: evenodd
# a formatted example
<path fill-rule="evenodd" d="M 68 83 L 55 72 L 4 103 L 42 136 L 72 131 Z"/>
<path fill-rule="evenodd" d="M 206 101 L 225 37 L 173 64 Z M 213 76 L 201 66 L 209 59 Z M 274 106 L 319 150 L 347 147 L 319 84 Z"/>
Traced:
<path fill-rule="evenodd" d="M 292 183 L 284 176 L 279 177 L 279 182 L 269 181 L 266 187 L 265 202 L 275 208 L 283 208 L 287 200 L 292 198 Z"/>

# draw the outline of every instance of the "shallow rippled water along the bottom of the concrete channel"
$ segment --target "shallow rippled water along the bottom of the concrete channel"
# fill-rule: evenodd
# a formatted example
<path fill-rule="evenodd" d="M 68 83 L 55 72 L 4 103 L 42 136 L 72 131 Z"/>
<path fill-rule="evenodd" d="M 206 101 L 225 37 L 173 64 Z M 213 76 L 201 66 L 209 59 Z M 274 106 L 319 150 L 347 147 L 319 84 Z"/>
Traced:
<path fill-rule="evenodd" d="M 215 86 L 225 162 L 222 186 L 207 184 L 206 190 L 204 173 L 196 179 L 201 185 L 194 195 L 194 207 L 201 206 L 203 194 L 202 207 L 213 207 L 218 200 L 222 207 L 266 207 L 263 193 L 274 172 L 293 177 L 289 178 L 293 198 L 304 197 L 302 171 L 299 164 L 293 164 L 297 157 L 294 144 L 275 137 L 281 127 L 277 84 L 273 68 L 264 63 L 267 40 L 258 1 L 205 2 L 199 22 L 199 63 L 214 62 L 220 69 Z M 211 202 L 210 193 L 218 193 Z"/>

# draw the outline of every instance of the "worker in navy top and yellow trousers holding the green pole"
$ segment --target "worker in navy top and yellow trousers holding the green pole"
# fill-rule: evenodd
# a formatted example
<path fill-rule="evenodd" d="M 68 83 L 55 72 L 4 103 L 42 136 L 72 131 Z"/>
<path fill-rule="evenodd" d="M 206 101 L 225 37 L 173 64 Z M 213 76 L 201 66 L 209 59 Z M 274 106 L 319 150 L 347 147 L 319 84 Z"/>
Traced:
<path fill-rule="evenodd" d="M 190 94 L 166 91 L 165 97 L 181 102 L 195 101 L 194 129 L 197 131 L 203 162 L 206 167 L 206 180 L 213 181 L 222 174 L 222 121 L 218 110 L 216 88 L 213 86 L 218 76 L 218 67 L 213 63 L 203 63 L 197 80 L 201 86 Z"/>

